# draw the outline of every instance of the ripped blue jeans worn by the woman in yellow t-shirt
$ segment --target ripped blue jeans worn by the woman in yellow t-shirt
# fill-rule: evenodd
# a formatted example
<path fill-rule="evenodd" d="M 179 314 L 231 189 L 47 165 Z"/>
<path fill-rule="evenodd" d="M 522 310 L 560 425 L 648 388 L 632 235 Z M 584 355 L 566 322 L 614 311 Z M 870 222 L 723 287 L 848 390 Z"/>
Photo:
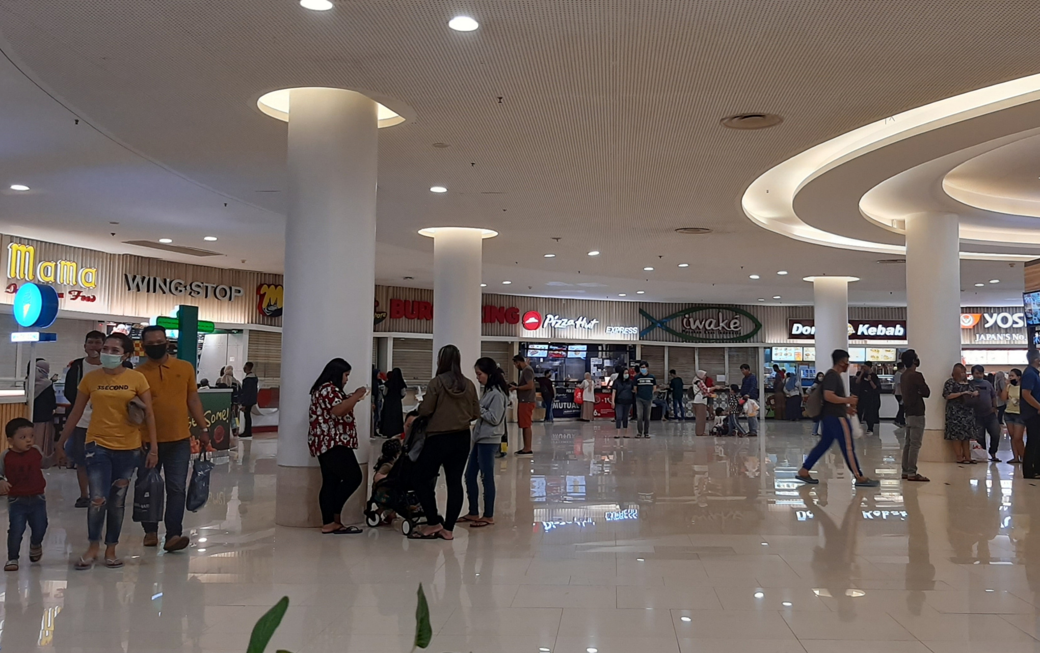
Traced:
<path fill-rule="evenodd" d="M 107 523 L 105 545 L 113 546 L 120 542 L 127 490 L 137 469 L 140 449 L 109 449 L 97 442 L 87 442 L 84 452 L 90 494 L 86 537 L 90 542 L 100 542 L 101 527 Z"/>

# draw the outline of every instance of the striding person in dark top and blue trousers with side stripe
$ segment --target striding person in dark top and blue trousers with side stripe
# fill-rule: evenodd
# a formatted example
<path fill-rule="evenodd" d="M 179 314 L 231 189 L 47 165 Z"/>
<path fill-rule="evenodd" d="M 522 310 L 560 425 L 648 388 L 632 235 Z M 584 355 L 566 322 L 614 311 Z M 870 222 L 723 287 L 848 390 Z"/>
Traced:
<path fill-rule="evenodd" d="M 809 475 L 809 470 L 816 464 L 816 461 L 831 448 L 835 442 L 841 449 L 841 455 L 846 459 L 846 465 L 856 477 L 858 488 L 877 488 L 880 484 L 863 475 L 859 468 L 859 461 L 856 459 L 856 448 L 852 443 L 852 421 L 850 415 L 856 414 L 856 396 L 849 396 L 844 386 L 844 378 L 841 377 L 849 369 L 849 352 L 844 349 L 834 349 L 831 354 L 831 361 L 834 367 L 827 370 L 824 375 L 824 407 L 823 407 L 823 434 L 820 442 L 812 448 L 806 456 L 802 469 L 798 470 L 796 478 L 802 482 L 815 485 L 818 478 Z"/>

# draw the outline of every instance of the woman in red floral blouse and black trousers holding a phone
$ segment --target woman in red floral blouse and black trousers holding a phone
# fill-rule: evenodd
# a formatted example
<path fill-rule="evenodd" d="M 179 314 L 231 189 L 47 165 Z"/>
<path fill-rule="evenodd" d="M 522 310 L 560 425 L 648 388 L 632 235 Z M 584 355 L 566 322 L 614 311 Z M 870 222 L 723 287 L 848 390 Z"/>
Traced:
<path fill-rule="evenodd" d="M 365 396 L 365 389 L 358 388 L 349 395 L 343 386 L 350 375 L 350 364 L 343 359 L 333 359 L 321 375 L 311 386 L 310 428 L 307 444 L 311 455 L 321 466 L 321 533 L 359 533 L 357 526 L 340 523 L 340 511 L 361 486 L 362 472 L 354 450 L 358 448 L 358 429 L 354 424 L 354 407 Z"/>

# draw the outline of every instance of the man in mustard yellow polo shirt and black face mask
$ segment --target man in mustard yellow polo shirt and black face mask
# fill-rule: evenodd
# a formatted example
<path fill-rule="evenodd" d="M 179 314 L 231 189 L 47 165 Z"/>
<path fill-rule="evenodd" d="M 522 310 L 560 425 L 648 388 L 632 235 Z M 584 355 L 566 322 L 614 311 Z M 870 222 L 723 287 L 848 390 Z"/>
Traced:
<path fill-rule="evenodd" d="M 209 443 L 209 423 L 202 410 L 199 389 L 196 386 L 194 367 L 187 361 L 171 358 L 166 352 L 166 330 L 153 324 L 140 334 L 140 342 L 148 360 L 137 366 L 152 389 L 152 409 L 155 412 L 155 430 L 159 442 L 159 463 L 166 480 L 166 539 L 163 549 L 179 551 L 190 544 L 182 534 L 184 503 L 191 458 L 188 413 L 202 426 L 202 444 Z M 142 522 L 145 546 L 159 544 L 159 524 Z"/>

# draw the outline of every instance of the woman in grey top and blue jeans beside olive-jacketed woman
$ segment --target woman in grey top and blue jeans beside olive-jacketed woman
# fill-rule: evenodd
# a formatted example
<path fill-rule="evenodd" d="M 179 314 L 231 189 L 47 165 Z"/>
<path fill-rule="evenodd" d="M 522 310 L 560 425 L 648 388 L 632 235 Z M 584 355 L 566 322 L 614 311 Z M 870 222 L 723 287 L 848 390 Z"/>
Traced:
<path fill-rule="evenodd" d="M 484 394 L 480 396 L 480 419 L 473 426 L 473 448 L 469 450 L 469 463 L 466 465 L 469 514 L 460 517 L 459 521 L 470 522 L 470 528 L 483 528 L 495 523 L 495 453 L 505 434 L 505 402 L 510 387 L 494 359 L 477 359 L 473 370 L 476 380 L 484 386 Z M 480 517 L 477 473 L 484 480 L 484 517 Z"/>

